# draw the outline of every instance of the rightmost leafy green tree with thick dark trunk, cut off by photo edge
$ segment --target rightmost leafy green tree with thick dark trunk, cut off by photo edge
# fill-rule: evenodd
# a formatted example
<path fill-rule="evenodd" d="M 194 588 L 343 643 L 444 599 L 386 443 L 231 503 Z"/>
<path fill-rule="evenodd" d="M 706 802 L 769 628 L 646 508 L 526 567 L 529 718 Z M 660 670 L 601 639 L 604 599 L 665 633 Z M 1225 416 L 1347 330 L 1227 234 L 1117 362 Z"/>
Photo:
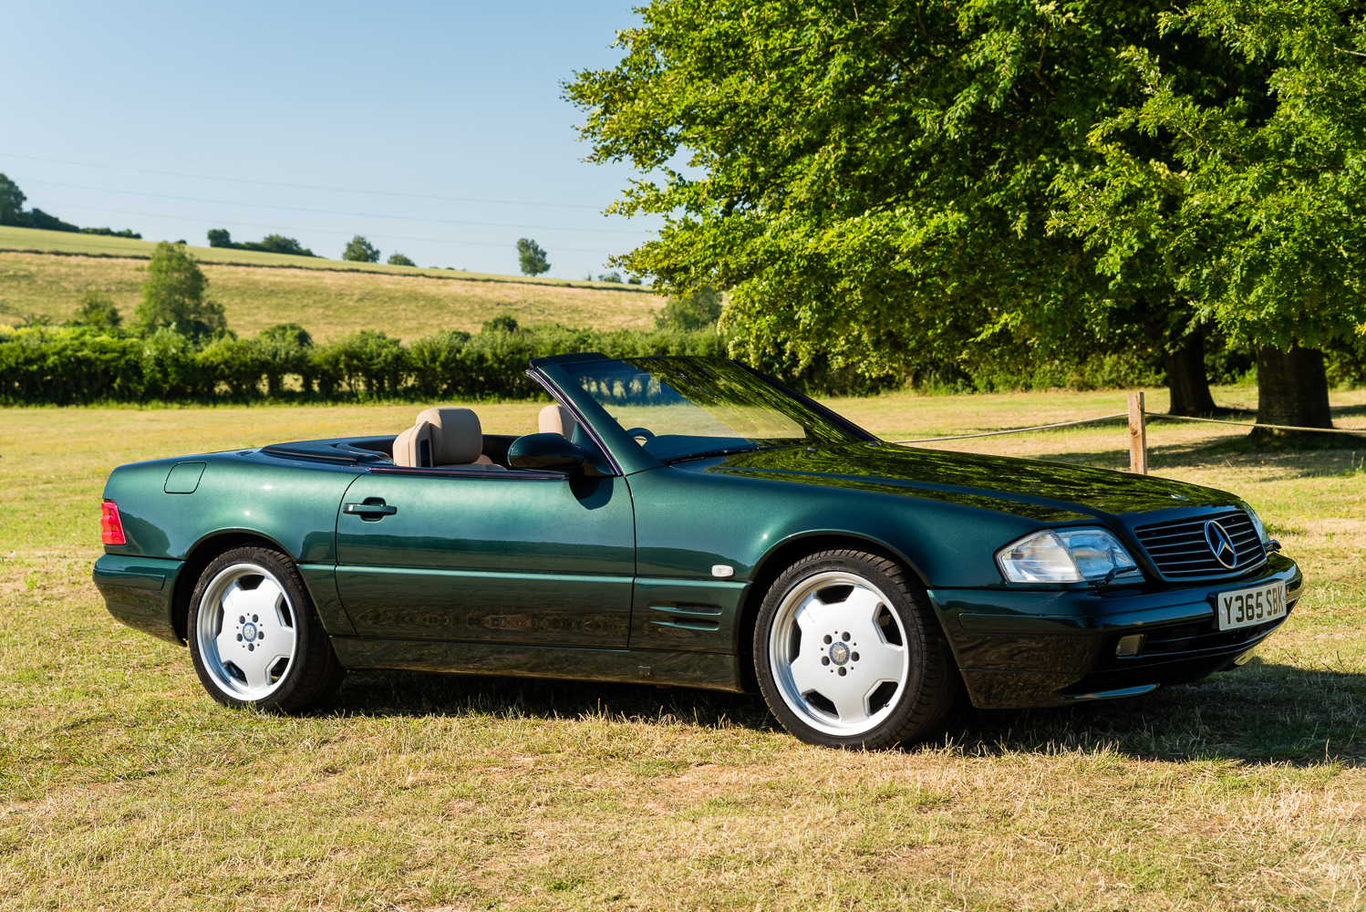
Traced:
<path fill-rule="evenodd" d="M 1321 347 L 1366 332 L 1366 8 L 1350 0 L 1205 0 L 1164 16 L 1269 68 L 1268 91 L 1195 96 L 1135 51 L 1142 104 L 1098 124 L 1105 157 L 1059 223 L 1113 272 L 1187 268 L 1180 291 L 1257 345 L 1259 423 L 1330 427 Z M 1154 149 L 1160 141 L 1160 149 Z"/>

